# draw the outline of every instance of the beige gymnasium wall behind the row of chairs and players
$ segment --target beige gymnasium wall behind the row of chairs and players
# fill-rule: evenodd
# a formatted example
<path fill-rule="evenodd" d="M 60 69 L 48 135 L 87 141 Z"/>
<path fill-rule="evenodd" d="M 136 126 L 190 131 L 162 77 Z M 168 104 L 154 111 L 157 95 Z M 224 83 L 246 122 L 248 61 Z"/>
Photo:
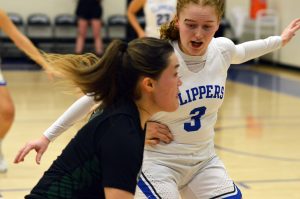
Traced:
<path fill-rule="evenodd" d="M 30 13 L 43 12 L 51 18 L 59 13 L 74 13 L 77 0 L 0 0 L 0 7 L 8 12 L 20 13 L 26 18 Z M 116 13 L 125 13 L 126 0 L 102 0 L 104 20 L 107 16 Z M 274 8 L 280 15 L 280 29 L 289 22 L 300 17 L 299 0 L 268 0 L 270 8 Z M 226 0 L 226 14 L 234 6 L 243 6 L 249 10 L 250 0 Z M 285 48 L 280 50 L 279 62 L 300 68 L 300 32 Z"/>

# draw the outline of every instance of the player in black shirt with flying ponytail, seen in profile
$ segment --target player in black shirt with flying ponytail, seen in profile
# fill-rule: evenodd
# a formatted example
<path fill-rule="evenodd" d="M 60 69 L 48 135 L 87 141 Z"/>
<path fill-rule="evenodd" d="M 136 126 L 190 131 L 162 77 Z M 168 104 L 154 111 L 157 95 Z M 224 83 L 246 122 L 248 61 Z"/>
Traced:
<path fill-rule="evenodd" d="M 133 198 L 142 166 L 145 123 L 178 107 L 178 60 L 167 41 L 113 41 L 92 54 L 45 54 L 58 73 L 101 106 L 26 199 Z M 91 94 L 92 93 L 92 94 Z"/>

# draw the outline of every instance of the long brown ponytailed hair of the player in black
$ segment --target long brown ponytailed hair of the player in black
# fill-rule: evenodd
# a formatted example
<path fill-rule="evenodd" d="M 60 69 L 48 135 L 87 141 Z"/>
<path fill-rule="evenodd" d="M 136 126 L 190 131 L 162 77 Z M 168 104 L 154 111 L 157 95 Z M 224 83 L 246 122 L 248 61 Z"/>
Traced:
<path fill-rule="evenodd" d="M 121 98 L 138 99 L 139 77 L 158 78 L 168 65 L 173 47 L 167 41 L 140 38 L 129 44 L 114 40 L 100 59 L 93 54 L 44 54 L 54 71 L 85 94 L 110 106 Z"/>

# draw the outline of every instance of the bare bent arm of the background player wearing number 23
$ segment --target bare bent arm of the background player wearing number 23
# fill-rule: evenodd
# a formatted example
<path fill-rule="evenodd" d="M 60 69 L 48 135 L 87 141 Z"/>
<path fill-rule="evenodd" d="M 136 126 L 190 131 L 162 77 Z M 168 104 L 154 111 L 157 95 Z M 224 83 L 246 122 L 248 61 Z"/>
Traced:
<path fill-rule="evenodd" d="M 136 13 L 144 7 L 145 3 L 146 0 L 132 0 L 127 9 L 127 17 L 129 23 L 131 24 L 139 38 L 145 37 L 145 31 L 139 24 Z"/>

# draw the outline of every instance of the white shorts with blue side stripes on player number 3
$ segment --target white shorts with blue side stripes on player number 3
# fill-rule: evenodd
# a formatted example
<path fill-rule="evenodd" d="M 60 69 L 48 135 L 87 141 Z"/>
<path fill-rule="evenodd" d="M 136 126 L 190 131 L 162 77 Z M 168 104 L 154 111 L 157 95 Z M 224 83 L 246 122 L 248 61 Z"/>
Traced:
<path fill-rule="evenodd" d="M 187 156 L 147 152 L 135 199 L 241 199 L 238 187 L 217 157 L 191 164 Z M 157 155 L 157 153 L 156 153 Z"/>

